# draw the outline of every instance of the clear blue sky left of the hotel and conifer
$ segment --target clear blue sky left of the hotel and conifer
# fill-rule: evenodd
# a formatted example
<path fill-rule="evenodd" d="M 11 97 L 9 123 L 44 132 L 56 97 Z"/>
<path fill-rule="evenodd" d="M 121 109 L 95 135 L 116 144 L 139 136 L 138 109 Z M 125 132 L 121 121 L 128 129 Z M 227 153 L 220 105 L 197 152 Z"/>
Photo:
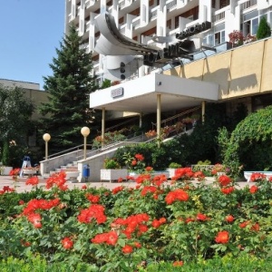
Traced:
<path fill-rule="evenodd" d="M 0 0 L 0 78 L 40 83 L 64 35 L 64 0 Z"/>

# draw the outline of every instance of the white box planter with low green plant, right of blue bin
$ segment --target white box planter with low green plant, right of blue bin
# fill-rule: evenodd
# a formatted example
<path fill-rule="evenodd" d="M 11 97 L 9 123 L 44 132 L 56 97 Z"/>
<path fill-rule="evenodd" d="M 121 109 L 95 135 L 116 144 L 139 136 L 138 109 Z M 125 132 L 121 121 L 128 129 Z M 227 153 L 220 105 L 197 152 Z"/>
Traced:
<path fill-rule="evenodd" d="M 121 165 L 114 158 L 106 158 L 104 160 L 104 169 L 101 170 L 101 180 L 126 180 L 128 170 L 121 169 Z"/>

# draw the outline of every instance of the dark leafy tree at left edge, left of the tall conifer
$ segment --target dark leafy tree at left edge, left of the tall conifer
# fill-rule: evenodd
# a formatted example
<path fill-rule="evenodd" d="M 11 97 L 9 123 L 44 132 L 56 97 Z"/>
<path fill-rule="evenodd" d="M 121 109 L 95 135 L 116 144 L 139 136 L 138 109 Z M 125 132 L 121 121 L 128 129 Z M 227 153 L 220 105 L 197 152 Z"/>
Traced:
<path fill-rule="evenodd" d="M 27 136 L 33 129 L 30 118 L 34 112 L 34 104 L 24 96 L 22 88 L 6 87 L 2 84 L 0 104 L 0 160 L 5 160 L 5 164 L 9 164 L 12 160 L 19 160 L 12 158 L 12 150 L 27 148 Z M 21 157 L 24 155 L 20 152 L 17 154 Z"/>

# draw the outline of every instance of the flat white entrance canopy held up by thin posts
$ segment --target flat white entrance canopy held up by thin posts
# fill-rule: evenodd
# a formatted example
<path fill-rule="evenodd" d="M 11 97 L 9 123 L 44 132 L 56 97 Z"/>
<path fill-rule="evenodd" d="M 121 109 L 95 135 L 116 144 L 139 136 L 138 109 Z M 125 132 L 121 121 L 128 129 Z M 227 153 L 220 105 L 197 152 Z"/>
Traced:
<path fill-rule="evenodd" d="M 114 97 L 112 92 L 121 95 Z M 160 94 L 161 111 L 168 112 L 198 106 L 203 101 L 217 102 L 219 84 L 152 73 L 92 92 L 90 108 L 119 112 L 157 112 L 158 94 Z"/>

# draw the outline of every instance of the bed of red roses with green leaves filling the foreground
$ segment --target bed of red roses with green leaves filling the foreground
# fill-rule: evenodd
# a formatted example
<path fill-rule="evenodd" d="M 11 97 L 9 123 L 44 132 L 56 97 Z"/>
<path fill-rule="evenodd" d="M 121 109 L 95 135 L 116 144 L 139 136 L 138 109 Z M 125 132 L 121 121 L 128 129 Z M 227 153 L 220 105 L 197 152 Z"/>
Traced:
<path fill-rule="evenodd" d="M 26 182 L 29 192 L 0 189 L 3 263 L 32 256 L 65 271 L 193 271 L 192 264 L 226 259 L 229 268 L 248 257 L 245 267 L 251 260 L 271 270 L 272 182 L 264 175 L 243 189 L 227 175 L 208 184 L 190 168 L 171 182 L 146 171 L 133 188 L 123 181 L 112 190 L 68 189 L 64 172 L 44 189 L 38 177 Z"/>

